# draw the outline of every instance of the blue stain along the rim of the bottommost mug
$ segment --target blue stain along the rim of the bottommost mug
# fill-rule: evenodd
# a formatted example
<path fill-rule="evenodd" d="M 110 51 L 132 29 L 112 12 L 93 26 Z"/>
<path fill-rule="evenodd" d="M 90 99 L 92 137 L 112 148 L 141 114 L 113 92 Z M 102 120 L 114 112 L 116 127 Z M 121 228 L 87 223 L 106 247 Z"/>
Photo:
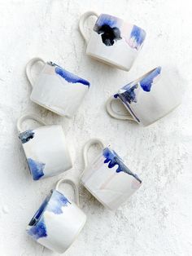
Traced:
<path fill-rule="evenodd" d="M 33 236 L 35 240 L 38 240 L 41 237 L 46 237 L 47 232 L 45 219 L 43 217 L 44 212 L 49 211 L 54 214 L 62 214 L 62 207 L 68 206 L 68 204 L 71 203 L 65 196 L 63 196 L 63 194 L 58 191 L 51 191 L 50 195 L 43 201 L 30 223 L 28 223 L 28 226 L 30 227 L 28 234 Z"/>

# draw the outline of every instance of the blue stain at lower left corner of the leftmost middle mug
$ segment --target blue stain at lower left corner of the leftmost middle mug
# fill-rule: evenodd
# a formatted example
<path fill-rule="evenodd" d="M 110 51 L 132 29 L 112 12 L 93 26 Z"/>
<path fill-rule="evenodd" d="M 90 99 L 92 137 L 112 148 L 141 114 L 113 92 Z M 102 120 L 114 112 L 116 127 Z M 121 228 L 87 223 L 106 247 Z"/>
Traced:
<path fill-rule="evenodd" d="M 43 170 L 46 164 L 28 158 L 28 166 L 34 180 L 38 180 L 44 176 Z"/>

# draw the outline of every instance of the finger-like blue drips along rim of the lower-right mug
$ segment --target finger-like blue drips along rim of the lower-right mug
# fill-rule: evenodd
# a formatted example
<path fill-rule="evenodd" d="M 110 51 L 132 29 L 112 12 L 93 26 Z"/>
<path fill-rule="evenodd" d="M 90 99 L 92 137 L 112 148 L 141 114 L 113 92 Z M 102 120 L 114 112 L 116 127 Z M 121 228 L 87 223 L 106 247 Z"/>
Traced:
<path fill-rule="evenodd" d="M 109 168 L 113 168 L 117 166 L 116 172 L 120 173 L 123 171 L 126 174 L 133 176 L 133 178 L 137 179 L 139 183 L 142 183 L 142 180 L 137 177 L 137 174 L 133 174 L 131 170 L 127 166 L 124 165 L 122 159 L 117 155 L 114 150 L 110 150 L 109 148 L 103 149 L 103 157 L 105 157 L 104 163 L 108 163 Z"/>

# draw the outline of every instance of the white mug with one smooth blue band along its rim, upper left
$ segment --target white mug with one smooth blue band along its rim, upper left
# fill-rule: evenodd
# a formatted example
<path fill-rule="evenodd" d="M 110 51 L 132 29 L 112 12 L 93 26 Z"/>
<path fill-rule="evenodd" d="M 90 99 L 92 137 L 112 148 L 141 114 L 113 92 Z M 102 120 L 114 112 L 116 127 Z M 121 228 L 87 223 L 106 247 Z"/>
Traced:
<path fill-rule="evenodd" d="M 41 62 L 43 68 L 36 81 L 31 69 Z M 68 72 L 53 62 L 33 58 L 26 65 L 26 75 L 33 87 L 30 99 L 63 117 L 72 117 L 89 90 L 89 82 Z"/>

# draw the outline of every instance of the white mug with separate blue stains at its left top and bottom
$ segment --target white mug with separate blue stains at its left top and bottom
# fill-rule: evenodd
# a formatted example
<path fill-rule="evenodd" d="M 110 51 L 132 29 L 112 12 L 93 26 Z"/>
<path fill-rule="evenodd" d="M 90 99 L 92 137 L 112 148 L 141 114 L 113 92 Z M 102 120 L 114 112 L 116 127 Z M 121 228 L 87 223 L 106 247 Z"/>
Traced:
<path fill-rule="evenodd" d="M 23 130 L 22 123 L 28 119 L 37 121 L 42 126 Z M 72 168 L 62 126 L 48 126 L 39 117 L 27 114 L 19 118 L 17 129 L 33 180 L 54 176 Z"/>

